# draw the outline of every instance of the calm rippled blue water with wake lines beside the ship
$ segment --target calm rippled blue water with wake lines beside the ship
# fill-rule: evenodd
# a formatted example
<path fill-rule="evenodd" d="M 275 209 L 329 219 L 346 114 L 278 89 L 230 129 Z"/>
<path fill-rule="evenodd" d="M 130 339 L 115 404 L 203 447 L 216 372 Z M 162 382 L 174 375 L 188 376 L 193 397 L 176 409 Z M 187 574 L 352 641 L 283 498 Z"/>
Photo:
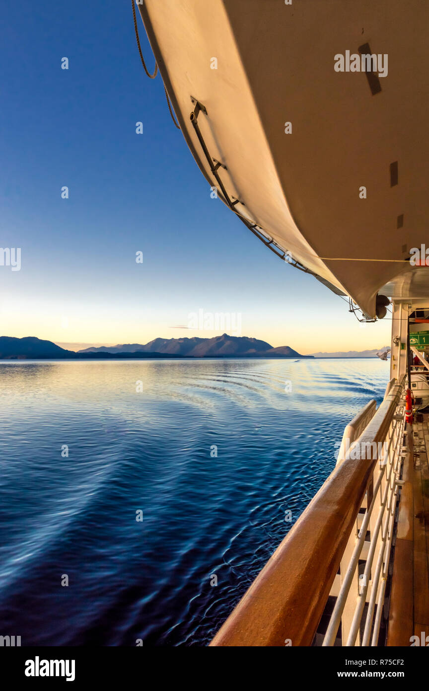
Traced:
<path fill-rule="evenodd" d="M 0 362 L 0 634 L 206 645 L 388 368 Z"/>

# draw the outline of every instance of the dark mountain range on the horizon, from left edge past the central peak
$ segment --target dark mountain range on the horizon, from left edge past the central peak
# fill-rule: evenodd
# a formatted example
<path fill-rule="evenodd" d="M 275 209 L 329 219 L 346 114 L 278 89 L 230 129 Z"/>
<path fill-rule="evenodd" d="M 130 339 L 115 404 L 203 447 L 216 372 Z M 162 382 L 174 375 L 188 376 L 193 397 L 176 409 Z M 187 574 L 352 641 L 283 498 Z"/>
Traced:
<path fill-rule="evenodd" d="M 146 345 L 127 343 L 86 348 L 74 352 L 34 336 L 17 339 L 0 337 L 0 359 L 112 359 L 112 358 L 181 358 L 181 357 L 311 357 L 300 355 L 288 345 L 272 348 L 270 343 L 246 336 L 216 336 L 212 339 L 154 339 Z"/>

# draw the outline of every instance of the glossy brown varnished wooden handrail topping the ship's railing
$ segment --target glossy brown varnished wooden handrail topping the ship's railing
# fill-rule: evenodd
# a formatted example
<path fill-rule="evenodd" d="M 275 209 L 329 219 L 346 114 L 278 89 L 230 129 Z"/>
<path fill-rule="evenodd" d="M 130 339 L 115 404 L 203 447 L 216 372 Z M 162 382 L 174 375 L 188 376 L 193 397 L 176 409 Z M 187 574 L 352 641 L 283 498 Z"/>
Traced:
<path fill-rule="evenodd" d="M 384 442 L 404 381 L 392 386 L 357 448 Z M 348 458 L 332 471 L 211 646 L 311 645 L 376 462 L 377 453 Z"/>

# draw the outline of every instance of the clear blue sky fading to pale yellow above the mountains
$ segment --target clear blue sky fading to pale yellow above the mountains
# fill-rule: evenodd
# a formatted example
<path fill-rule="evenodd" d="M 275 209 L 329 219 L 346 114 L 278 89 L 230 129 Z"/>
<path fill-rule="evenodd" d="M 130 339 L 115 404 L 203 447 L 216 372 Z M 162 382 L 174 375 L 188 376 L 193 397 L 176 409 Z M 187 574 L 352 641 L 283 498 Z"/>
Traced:
<path fill-rule="evenodd" d="M 2 23 L 0 247 L 21 247 L 21 270 L 0 267 L 1 335 L 211 337 L 172 328 L 201 308 L 304 353 L 389 343 L 389 321 L 359 326 L 210 198 L 161 77 L 143 73 L 128 0 L 8 3 Z"/>

